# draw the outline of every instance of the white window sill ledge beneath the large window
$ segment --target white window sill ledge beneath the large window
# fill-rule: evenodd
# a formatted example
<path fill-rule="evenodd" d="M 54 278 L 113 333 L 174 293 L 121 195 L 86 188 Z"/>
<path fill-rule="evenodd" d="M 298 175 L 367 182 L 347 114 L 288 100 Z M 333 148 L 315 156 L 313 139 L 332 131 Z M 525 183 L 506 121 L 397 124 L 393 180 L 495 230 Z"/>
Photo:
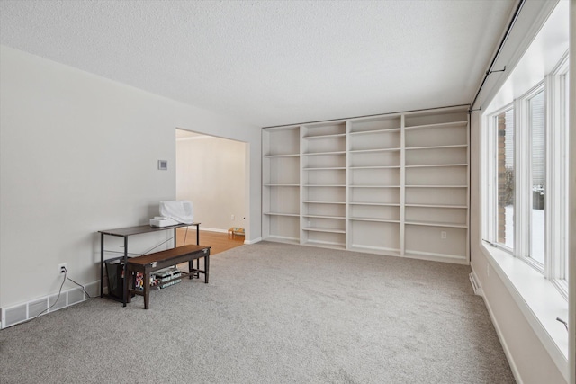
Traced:
<path fill-rule="evenodd" d="M 485 243 L 481 249 L 558 369 L 568 378 L 568 332 L 556 320 L 561 317 L 568 321 L 568 301 L 551 281 L 524 261 Z"/>

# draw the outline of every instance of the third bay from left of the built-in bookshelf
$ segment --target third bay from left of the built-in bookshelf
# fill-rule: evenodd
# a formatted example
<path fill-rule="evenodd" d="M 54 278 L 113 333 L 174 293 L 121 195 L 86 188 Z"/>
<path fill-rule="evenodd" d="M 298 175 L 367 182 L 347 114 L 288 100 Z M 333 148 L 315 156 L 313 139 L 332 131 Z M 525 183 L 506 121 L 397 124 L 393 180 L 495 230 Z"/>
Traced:
<path fill-rule="evenodd" d="M 348 249 L 401 255 L 401 121 L 349 122 Z"/>

